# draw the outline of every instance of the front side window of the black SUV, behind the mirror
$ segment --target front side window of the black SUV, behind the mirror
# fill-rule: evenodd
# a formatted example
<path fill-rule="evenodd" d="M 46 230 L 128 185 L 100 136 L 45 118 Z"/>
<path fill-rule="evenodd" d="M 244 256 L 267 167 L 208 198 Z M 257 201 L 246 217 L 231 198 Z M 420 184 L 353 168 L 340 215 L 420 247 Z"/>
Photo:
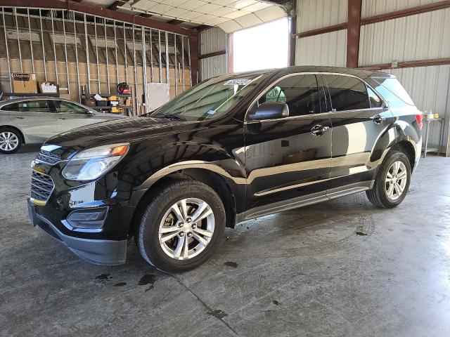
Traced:
<path fill-rule="evenodd" d="M 321 112 L 319 88 L 315 75 L 286 77 L 273 86 L 259 103 L 283 102 L 289 107 L 289 116 L 317 114 Z"/>

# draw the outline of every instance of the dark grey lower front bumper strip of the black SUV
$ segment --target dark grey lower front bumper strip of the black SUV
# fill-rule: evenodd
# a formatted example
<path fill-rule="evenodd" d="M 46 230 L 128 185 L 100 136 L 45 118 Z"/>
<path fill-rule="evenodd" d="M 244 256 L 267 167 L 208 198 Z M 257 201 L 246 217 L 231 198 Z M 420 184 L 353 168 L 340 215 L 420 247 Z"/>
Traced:
<path fill-rule="evenodd" d="M 90 263 L 101 265 L 120 265 L 125 263 L 127 256 L 127 240 L 106 240 L 106 239 L 86 239 L 82 237 L 72 237 L 64 234 L 51 223 L 37 213 L 35 206 L 28 199 L 28 213 L 32 225 L 49 234 L 53 239 L 57 239 L 70 249 L 75 255 L 89 261 Z"/>

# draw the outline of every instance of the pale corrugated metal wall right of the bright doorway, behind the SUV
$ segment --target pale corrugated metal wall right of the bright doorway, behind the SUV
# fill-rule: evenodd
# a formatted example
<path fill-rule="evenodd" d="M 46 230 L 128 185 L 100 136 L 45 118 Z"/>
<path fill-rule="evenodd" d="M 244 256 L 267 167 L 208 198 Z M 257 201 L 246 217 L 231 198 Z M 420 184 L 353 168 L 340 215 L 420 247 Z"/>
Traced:
<path fill-rule="evenodd" d="M 362 18 L 390 13 L 439 0 L 363 0 Z M 347 0 L 297 0 L 297 32 L 306 32 L 347 21 Z M 296 65 L 345 67 L 347 30 L 297 39 Z M 450 57 L 450 8 L 361 27 L 359 65 Z M 420 110 L 450 120 L 450 65 L 387 70 L 395 74 Z M 439 143 L 439 124 L 431 144 Z M 442 148 L 444 151 L 445 149 Z"/>

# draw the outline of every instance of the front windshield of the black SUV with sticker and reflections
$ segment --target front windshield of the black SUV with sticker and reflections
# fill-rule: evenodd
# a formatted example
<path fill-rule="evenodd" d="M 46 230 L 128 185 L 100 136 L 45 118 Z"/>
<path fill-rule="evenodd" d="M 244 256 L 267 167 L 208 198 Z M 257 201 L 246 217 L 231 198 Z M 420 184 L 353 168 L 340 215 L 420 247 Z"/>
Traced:
<path fill-rule="evenodd" d="M 223 116 L 252 91 L 263 77 L 263 74 L 232 74 L 208 79 L 151 112 L 150 116 L 175 115 L 187 121 Z"/>

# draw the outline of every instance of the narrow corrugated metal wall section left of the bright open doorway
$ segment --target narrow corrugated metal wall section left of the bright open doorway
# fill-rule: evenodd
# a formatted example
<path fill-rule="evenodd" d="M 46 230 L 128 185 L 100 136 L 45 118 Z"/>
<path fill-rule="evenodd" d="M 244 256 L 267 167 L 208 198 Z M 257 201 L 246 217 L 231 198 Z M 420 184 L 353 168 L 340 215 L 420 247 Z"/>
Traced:
<path fill-rule="evenodd" d="M 218 28 L 206 29 L 200 33 L 200 55 L 227 49 L 226 33 Z M 200 60 L 200 80 L 209 79 L 228 72 L 228 55 L 217 55 Z"/>

